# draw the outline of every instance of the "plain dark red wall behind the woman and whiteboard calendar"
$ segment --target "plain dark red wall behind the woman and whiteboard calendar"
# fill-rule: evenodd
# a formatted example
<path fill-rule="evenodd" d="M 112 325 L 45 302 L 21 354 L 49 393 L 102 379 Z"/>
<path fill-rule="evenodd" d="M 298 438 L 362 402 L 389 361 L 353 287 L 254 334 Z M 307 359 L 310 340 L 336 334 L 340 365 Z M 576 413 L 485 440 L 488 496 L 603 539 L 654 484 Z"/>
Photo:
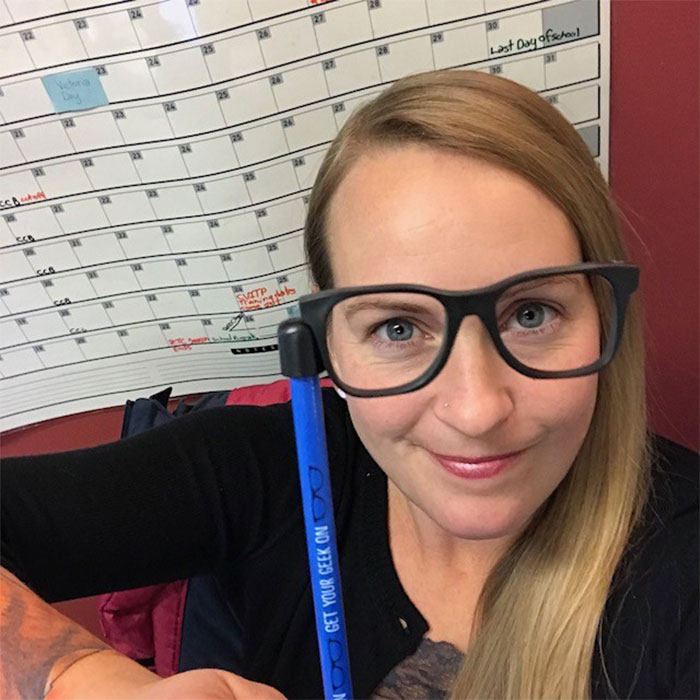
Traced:
<path fill-rule="evenodd" d="M 700 3 L 613 0 L 613 193 L 642 267 L 652 428 L 698 449 Z M 223 387 L 222 387 L 223 388 Z M 86 447 L 119 437 L 121 408 L 2 435 L 2 454 Z M 99 633 L 94 599 L 56 605 Z"/>

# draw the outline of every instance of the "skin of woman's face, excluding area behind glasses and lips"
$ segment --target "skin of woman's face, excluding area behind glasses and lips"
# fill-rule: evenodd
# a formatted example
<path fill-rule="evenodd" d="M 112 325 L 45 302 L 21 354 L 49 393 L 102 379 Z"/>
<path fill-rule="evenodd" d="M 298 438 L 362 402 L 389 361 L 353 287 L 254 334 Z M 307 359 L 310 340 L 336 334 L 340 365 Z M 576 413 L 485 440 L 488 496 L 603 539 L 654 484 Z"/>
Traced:
<path fill-rule="evenodd" d="M 566 216 L 525 179 L 418 145 L 361 157 L 333 198 L 327 231 L 338 287 L 468 290 L 581 261 Z M 588 430 L 596 388 L 596 375 L 543 380 L 517 373 L 478 317 L 469 316 L 430 384 L 347 402 L 362 442 L 413 510 L 448 535 L 509 539 L 566 475 Z M 486 479 L 456 476 L 433 456 L 521 450 Z"/>

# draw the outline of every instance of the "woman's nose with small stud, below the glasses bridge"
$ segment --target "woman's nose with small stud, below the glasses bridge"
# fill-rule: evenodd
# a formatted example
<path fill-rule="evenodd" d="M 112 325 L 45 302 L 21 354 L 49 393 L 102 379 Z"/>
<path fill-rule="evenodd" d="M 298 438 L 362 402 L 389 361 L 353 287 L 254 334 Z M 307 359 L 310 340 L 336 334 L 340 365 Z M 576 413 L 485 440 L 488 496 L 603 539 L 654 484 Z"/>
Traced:
<path fill-rule="evenodd" d="M 469 437 L 488 434 L 513 413 L 511 369 L 477 316 L 463 319 L 435 382 L 435 412 Z"/>

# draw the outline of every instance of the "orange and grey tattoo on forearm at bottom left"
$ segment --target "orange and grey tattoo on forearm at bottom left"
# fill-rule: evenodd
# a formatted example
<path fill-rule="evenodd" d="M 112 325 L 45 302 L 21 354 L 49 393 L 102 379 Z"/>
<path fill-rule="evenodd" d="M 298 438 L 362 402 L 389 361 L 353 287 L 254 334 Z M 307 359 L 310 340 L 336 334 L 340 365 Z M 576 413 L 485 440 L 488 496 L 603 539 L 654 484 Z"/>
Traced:
<path fill-rule="evenodd" d="M 70 665 L 91 653 L 112 649 L 76 622 L 51 607 L 7 569 L 0 568 L 0 697 L 45 697 Z M 80 653 L 82 652 L 82 653 Z M 70 660 L 68 656 L 70 655 Z"/>

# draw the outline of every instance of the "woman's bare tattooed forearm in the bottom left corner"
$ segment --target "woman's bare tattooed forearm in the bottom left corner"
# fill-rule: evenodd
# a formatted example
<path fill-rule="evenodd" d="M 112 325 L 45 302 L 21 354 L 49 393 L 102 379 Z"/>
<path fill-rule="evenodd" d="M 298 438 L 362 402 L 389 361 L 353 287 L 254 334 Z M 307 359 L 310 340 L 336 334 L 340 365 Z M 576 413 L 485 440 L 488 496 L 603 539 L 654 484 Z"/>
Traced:
<path fill-rule="evenodd" d="M 99 683 L 127 694 L 158 676 L 119 654 L 0 567 L 0 697 L 75 698 Z M 107 653 L 103 653 L 107 652 Z M 89 664 L 78 663 L 94 656 Z M 94 687 L 93 697 L 99 697 Z M 105 695 L 104 697 L 107 697 Z"/>

